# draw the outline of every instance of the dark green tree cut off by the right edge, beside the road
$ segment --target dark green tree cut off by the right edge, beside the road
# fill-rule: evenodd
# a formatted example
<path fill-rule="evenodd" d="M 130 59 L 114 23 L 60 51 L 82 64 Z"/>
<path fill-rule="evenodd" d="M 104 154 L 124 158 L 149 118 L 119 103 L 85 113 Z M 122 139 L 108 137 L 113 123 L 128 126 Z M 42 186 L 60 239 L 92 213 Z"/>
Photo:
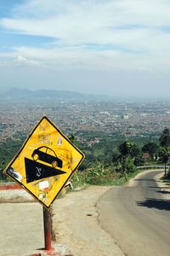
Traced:
<path fill-rule="evenodd" d="M 160 142 L 160 157 L 162 162 L 165 165 L 165 177 L 167 177 L 167 164 L 169 162 L 169 157 L 170 157 L 170 132 L 169 129 L 165 128 L 161 136 L 159 137 L 159 142 Z"/>

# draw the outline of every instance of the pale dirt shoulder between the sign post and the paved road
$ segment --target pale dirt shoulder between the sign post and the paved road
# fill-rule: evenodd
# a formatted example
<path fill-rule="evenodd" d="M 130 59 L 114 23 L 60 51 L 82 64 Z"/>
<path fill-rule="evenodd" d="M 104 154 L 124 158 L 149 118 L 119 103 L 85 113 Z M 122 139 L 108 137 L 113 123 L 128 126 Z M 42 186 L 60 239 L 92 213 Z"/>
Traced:
<path fill-rule="evenodd" d="M 61 254 L 63 250 L 63 254 L 72 253 L 74 256 L 124 255 L 99 224 L 96 202 L 108 189 L 111 187 L 89 186 L 54 201 L 53 233 Z"/>

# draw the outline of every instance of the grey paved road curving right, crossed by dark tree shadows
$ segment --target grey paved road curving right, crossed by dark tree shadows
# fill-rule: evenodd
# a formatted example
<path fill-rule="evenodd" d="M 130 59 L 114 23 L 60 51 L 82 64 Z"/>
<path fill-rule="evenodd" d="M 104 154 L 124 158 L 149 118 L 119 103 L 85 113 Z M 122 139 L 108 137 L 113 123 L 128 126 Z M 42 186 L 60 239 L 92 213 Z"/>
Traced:
<path fill-rule="evenodd" d="M 147 172 L 132 187 L 116 187 L 100 198 L 100 223 L 128 256 L 170 256 L 170 193 L 157 187 L 160 171 Z"/>

